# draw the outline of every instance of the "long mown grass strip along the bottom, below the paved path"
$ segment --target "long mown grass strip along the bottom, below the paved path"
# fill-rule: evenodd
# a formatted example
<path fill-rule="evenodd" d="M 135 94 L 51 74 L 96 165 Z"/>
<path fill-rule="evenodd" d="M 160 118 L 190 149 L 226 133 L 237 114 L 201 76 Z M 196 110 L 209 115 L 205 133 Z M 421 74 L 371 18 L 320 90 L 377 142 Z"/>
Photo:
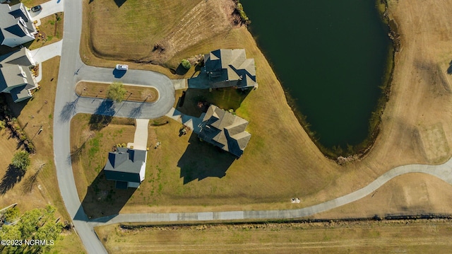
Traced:
<path fill-rule="evenodd" d="M 452 221 L 95 228 L 109 253 L 448 253 Z"/>

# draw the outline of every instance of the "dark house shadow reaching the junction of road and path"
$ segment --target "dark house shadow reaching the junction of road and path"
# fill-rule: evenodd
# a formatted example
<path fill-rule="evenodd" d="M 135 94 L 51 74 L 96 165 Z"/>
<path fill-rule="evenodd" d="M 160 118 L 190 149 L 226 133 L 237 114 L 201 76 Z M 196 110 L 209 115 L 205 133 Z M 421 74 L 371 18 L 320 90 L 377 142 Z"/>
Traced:
<path fill-rule="evenodd" d="M 82 207 L 88 219 L 119 214 L 134 192 L 136 188 L 117 189 L 115 182 L 107 180 L 102 170 L 88 186 Z"/>

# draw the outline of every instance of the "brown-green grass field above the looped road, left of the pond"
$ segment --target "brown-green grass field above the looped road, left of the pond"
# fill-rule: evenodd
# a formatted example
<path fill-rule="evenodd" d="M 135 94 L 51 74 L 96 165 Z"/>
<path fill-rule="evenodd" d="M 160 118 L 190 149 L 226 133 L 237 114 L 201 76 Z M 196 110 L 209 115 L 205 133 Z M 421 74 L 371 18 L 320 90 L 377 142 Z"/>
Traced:
<path fill-rule="evenodd" d="M 230 30 L 228 16 L 232 6 L 232 1 L 194 0 L 179 4 L 171 0 L 144 0 L 126 1 L 119 6 L 115 1 L 83 0 L 86 18 L 81 58 L 85 64 L 99 67 L 128 62 L 133 69 L 150 69 L 173 79 L 190 77 L 195 68 L 184 75 L 175 74 L 175 70 L 182 59 L 191 59 L 201 52 L 179 54 L 179 51 Z M 118 17 L 124 17 L 121 25 L 111 25 L 118 22 Z M 156 44 L 165 50 L 154 50 Z M 167 62 L 174 56 L 176 62 Z"/>

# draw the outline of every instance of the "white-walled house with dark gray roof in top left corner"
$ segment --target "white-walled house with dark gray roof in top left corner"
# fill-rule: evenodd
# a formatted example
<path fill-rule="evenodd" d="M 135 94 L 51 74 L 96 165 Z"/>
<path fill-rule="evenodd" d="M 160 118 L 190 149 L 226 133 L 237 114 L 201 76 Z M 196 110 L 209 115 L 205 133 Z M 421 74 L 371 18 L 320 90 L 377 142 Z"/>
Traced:
<path fill-rule="evenodd" d="M 30 12 L 22 4 L 0 4 L 0 44 L 16 47 L 35 40 L 37 34 Z"/>

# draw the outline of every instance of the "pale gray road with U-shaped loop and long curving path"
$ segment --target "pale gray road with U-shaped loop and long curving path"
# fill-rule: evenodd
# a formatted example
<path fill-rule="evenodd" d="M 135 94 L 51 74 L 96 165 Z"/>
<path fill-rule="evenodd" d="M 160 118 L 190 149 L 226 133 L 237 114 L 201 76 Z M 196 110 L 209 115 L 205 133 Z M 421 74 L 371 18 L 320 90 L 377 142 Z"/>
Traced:
<path fill-rule="evenodd" d="M 366 187 L 335 200 L 302 209 L 232 211 L 232 212 L 191 212 L 167 214 L 119 214 L 88 220 L 78 198 L 70 157 L 70 120 L 78 112 L 101 113 L 133 118 L 155 118 L 165 115 L 174 104 L 174 87 L 162 74 L 153 71 L 129 70 L 124 76 L 114 78 L 113 69 L 88 67 L 80 59 L 78 48 L 81 37 L 82 1 L 64 1 L 64 40 L 61 51 L 59 80 L 54 109 L 54 160 L 61 197 L 73 220 L 76 231 L 88 253 L 107 253 L 97 239 L 93 226 L 119 222 L 144 221 L 210 221 L 230 219 L 289 219 L 307 217 L 327 211 L 365 197 L 392 178 L 405 173 L 427 173 L 452 184 L 452 159 L 439 166 L 407 165 L 393 168 Z M 156 103 L 107 103 L 102 99 L 79 98 L 74 93 L 76 83 L 87 81 L 122 81 L 155 86 L 160 92 Z"/>

